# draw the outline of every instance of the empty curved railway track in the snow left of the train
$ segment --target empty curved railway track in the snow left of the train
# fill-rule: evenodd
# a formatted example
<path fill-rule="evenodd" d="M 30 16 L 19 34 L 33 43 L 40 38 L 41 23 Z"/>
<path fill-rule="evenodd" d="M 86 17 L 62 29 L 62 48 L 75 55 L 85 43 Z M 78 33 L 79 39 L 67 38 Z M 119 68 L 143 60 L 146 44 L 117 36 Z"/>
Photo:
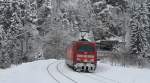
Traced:
<path fill-rule="evenodd" d="M 74 79 L 70 78 L 68 75 L 66 75 L 65 73 L 63 73 L 63 71 L 61 71 L 61 69 L 59 68 L 61 62 L 58 63 L 58 61 L 55 61 L 51 64 L 49 64 L 47 66 L 47 72 L 49 74 L 50 77 L 52 77 L 57 83 L 63 83 L 63 80 L 59 80 L 59 78 L 57 76 L 55 76 L 55 74 L 53 74 L 49 69 L 51 66 L 55 65 L 55 68 L 57 70 L 57 73 L 59 73 L 59 75 L 61 75 L 62 77 L 65 77 L 67 80 L 69 80 L 69 83 L 77 83 L 77 81 L 75 81 Z"/>

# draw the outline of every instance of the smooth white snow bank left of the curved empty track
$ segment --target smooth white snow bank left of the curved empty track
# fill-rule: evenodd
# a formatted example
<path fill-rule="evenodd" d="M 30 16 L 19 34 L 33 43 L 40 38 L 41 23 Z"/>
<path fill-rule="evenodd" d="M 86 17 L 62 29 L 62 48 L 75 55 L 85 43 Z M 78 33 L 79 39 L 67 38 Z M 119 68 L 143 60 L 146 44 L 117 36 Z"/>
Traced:
<path fill-rule="evenodd" d="M 41 60 L 0 70 L 0 83 L 53 83 L 46 67 L 55 60 Z"/>

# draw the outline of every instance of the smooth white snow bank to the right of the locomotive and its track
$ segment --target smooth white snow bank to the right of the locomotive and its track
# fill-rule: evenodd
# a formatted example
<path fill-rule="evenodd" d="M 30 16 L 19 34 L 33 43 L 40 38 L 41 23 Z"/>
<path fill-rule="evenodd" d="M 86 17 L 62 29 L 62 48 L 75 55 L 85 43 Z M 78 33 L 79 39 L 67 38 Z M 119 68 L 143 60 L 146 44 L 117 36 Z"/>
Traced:
<path fill-rule="evenodd" d="M 139 69 L 135 67 L 111 66 L 99 63 L 96 73 L 118 81 L 118 83 L 150 83 L 150 69 Z"/>

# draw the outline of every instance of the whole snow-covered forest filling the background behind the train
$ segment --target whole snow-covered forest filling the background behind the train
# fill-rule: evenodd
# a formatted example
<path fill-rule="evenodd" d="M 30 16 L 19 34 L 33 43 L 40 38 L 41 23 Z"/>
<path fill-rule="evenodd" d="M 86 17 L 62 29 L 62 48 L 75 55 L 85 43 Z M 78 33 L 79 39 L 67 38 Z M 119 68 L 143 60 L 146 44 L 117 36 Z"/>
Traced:
<path fill-rule="evenodd" d="M 82 29 L 121 38 L 122 65 L 149 63 L 150 0 L 0 0 L 0 68 L 64 58 Z"/>

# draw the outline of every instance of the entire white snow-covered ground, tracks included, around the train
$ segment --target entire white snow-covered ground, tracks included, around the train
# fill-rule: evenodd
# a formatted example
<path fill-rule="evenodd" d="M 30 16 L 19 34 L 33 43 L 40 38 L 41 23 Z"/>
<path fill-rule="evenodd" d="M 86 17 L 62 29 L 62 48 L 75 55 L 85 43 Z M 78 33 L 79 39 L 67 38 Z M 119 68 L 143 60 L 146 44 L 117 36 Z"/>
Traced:
<path fill-rule="evenodd" d="M 75 72 L 64 60 L 40 60 L 0 70 L 0 83 L 150 83 L 150 69 L 98 62 L 94 73 Z"/>

